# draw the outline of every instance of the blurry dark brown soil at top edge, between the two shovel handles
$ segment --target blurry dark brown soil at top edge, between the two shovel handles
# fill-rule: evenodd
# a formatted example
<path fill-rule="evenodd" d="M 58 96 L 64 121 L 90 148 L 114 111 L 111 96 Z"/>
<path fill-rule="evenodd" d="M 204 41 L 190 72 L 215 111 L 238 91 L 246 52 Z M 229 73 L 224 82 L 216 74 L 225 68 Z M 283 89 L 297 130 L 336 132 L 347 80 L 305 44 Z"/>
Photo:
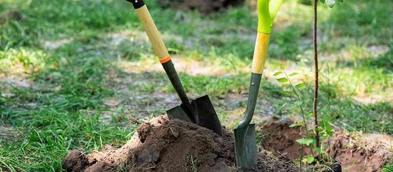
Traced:
<path fill-rule="evenodd" d="M 198 9 L 203 14 L 208 14 L 214 11 L 218 11 L 221 8 L 228 6 L 237 6 L 242 4 L 243 0 L 158 0 L 163 7 L 175 7 L 175 8 L 189 8 Z"/>

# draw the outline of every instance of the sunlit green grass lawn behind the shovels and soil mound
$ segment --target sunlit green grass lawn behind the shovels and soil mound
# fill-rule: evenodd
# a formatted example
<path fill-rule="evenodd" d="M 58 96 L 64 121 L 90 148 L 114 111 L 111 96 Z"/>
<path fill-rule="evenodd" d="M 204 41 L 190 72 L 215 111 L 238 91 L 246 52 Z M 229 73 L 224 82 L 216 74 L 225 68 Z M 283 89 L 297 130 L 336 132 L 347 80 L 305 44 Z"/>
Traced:
<path fill-rule="evenodd" d="M 393 134 L 392 5 L 361 0 L 338 3 L 334 9 L 319 7 L 319 114 L 332 117 L 339 127 Z M 180 77 L 191 95 L 209 94 L 223 123 L 235 126 L 240 116 L 228 111 L 244 109 L 245 102 L 235 107 L 217 102 L 248 89 L 257 21 L 253 10 L 231 7 L 202 17 L 197 11 L 161 9 L 155 1 L 148 7 L 171 54 L 224 71 Z M 1 170 L 62 171 L 61 159 L 71 149 L 91 151 L 125 143 L 135 126 L 121 114 L 138 102 L 146 104 L 140 106 L 148 108 L 145 115 L 164 114 L 168 108 L 138 98 L 174 90 L 162 70 L 138 68 L 151 68 L 157 60 L 128 2 L 5 0 L 0 2 L 1 21 L 0 127 L 10 127 L 0 134 Z M 297 120 L 294 95 L 283 94 L 288 87 L 272 74 L 282 70 L 282 63 L 287 63 L 285 70 L 299 73 L 294 82 L 308 84 L 300 96 L 310 113 L 312 6 L 307 0 L 285 2 L 276 21 L 259 97 L 276 115 Z M 115 34 L 125 36 L 114 43 Z M 59 46 L 48 48 L 54 44 Z M 370 46 L 388 50 L 374 56 Z M 20 79 L 31 85 L 20 86 Z M 355 100 L 374 95 L 385 98 Z M 120 103 L 108 107 L 107 98 Z"/>

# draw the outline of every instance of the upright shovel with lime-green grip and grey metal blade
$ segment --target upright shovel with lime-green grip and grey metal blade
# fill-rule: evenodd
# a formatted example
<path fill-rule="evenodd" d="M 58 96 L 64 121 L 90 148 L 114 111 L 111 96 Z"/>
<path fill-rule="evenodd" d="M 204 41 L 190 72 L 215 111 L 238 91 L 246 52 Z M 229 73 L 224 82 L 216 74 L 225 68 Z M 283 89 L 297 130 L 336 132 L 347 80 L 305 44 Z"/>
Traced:
<path fill-rule="evenodd" d="M 251 67 L 252 73 L 246 115 L 234 129 L 236 166 L 240 168 L 240 171 L 257 165 L 258 152 L 255 138 L 255 124 L 250 124 L 250 122 L 253 118 L 263 67 L 265 65 L 269 35 L 272 31 L 273 20 L 281 6 L 282 0 L 258 0 L 257 3 L 258 32 Z"/>

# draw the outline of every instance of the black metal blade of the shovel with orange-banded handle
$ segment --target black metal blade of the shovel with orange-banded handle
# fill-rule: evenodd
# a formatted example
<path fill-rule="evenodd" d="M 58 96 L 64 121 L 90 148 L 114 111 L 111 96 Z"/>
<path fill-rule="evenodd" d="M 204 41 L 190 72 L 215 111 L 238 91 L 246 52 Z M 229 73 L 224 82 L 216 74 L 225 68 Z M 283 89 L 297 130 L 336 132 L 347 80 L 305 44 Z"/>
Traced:
<path fill-rule="evenodd" d="M 208 95 L 190 99 L 189 106 L 183 103 L 167 111 L 169 119 L 177 118 L 212 130 L 222 135 L 220 120 Z"/>

